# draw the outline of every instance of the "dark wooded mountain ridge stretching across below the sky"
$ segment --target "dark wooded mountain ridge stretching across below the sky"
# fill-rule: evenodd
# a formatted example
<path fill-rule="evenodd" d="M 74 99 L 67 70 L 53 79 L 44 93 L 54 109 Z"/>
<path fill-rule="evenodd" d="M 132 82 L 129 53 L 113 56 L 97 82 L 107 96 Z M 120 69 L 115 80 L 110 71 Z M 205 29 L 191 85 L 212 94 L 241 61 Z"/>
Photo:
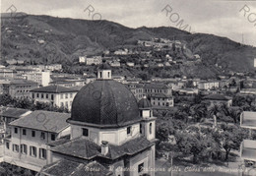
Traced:
<path fill-rule="evenodd" d="M 72 64 L 79 55 L 96 54 L 108 48 L 135 46 L 138 39 L 174 37 L 186 43 L 193 54 L 199 54 L 203 59 L 201 66 L 182 66 L 175 72 L 195 76 L 202 73 L 214 76 L 223 70 L 254 72 L 255 47 L 213 34 L 191 34 L 167 27 L 131 29 L 108 21 L 26 14 L 19 18 L 6 17 L 6 14 L 1 17 L 2 61 L 15 58 L 29 63 Z"/>

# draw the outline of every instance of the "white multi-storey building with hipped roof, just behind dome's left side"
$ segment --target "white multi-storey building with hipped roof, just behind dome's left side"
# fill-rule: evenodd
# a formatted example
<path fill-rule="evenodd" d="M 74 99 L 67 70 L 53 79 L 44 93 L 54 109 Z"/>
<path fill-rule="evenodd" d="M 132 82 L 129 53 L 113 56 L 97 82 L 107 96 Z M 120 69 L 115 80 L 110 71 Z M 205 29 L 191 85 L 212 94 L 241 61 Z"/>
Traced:
<path fill-rule="evenodd" d="M 77 94 L 76 88 L 65 88 L 60 86 L 48 86 L 42 88 L 34 88 L 31 90 L 31 97 L 34 103 L 45 102 L 58 107 L 71 109 L 72 102 Z"/>

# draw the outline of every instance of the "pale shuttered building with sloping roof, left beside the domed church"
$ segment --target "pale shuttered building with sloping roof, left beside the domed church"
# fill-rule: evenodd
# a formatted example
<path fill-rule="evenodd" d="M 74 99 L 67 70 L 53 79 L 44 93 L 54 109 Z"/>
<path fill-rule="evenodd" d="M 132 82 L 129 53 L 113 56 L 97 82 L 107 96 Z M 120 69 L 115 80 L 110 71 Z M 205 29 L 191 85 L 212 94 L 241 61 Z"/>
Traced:
<path fill-rule="evenodd" d="M 38 172 L 51 162 L 46 144 L 70 134 L 67 113 L 33 111 L 10 123 L 11 136 L 4 140 L 4 162 Z"/>

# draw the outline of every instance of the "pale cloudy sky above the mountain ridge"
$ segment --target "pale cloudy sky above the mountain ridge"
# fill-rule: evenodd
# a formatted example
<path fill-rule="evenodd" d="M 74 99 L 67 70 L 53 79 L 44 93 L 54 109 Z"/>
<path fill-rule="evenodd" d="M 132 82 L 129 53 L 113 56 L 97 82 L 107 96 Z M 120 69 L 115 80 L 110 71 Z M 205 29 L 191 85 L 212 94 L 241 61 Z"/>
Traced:
<path fill-rule="evenodd" d="M 245 44 L 256 46 L 256 0 L 2 0 L 1 12 L 11 5 L 17 12 L 86 20 L 101 17 L 130 28 L 178 28 L 183 20 L 183 26 L 189 26 L 186 30 L 238 42 L 243 35 Z"/>

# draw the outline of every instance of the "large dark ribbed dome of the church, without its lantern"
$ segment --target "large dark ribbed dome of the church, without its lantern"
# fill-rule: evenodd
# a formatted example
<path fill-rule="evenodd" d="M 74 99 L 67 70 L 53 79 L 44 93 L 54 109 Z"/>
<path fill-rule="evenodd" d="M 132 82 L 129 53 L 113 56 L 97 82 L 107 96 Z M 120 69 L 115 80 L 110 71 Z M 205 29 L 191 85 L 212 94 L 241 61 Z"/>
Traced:
<path fill-rule="evenodd" d="M 140 121 L 133 93 L 113 80 L 96 80 L 81 88 L 72 104 L 69 122 L 99 127 L 120 127 Z"/>

